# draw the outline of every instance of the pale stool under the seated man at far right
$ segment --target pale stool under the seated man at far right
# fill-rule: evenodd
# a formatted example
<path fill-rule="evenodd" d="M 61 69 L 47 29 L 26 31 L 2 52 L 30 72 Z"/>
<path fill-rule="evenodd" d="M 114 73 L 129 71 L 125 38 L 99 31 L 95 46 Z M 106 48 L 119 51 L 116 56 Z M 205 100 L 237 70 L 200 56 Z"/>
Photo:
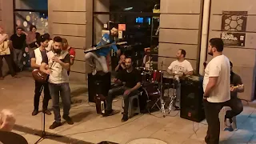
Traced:
<path fill-rule="evenodd" d="M 218 114 L 218 118 L 219 118 L 219 122 L 220 122 L 220 129 L 221 130 L 225 130 L 226 128 L 226 122 L 225 122 L 225 115 L 226 115 L 226 111 L 227 110 L 231 110 L 231 108 L 229 106 L 224 106 L 222 108 L 222 110 L 219 112 Z M 231 127 L 233 128 L 233 130 L 238 130 L 238 127 L 237 127 L 237 118 L 236 117 L 233 117 L 232 118 L 232 124 L 231 124 Z"/>

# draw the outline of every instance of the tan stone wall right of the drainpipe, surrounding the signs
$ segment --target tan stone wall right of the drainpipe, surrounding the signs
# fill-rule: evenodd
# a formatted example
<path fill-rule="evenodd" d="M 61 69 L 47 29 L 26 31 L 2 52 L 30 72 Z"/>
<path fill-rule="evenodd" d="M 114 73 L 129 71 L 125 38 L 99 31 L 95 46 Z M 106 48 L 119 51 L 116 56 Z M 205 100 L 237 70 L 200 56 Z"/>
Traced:
<path fill-rule="evenodd" d="M 222 11 L 247 11 L 246 30 L 238 33 L 246 34 L 245 46 L 225 46 L 224 54 L 233 62 L 234 72 L 242 77 L 245 92 L 239 97 L 251 101 L 255 90 L 256 59 L 256 1 L 214 0 L 211 3 L 209 38 L 220 38 L 222 32 Z M 235 32 L 235 31 L 231 31 Z M 210 61 L 210 57 L 207 61 Z"/>

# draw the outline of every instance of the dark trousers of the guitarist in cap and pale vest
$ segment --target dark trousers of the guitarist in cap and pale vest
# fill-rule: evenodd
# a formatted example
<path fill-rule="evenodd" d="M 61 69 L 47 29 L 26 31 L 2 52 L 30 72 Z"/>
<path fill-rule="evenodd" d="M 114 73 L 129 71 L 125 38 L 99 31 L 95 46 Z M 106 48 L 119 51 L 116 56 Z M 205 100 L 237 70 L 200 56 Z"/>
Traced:
<path fill-rule="evenodd" d="M 42 100 L 42 110 L 47 110 L 48 102 L 50 100 L 50 91 L 49 91 L 48 82 L 41 83 L 41 82 L 35 81 L 34 86 L 35 86 L 35 88 L 34 88 L 34 110 L 38 110 L 42 90 L 43 90 L 43 94 L 44 94 L 44 98 Z"/>

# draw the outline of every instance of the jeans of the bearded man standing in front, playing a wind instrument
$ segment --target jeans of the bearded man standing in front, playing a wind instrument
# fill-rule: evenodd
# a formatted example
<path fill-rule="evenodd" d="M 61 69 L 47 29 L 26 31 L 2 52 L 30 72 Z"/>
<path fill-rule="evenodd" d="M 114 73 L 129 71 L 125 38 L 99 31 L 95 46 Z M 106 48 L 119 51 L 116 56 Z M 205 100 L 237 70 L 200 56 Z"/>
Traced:
<path fill-rule="evenodd" d="M 59 96 L 62 98 L 63 116 L 70 114 L 70 85 L 69 83 L 53 84 L 49 83 L 50 96 L 53 102 L 54 120 L 61 122 L 61 114 L 59 108 Z"/>

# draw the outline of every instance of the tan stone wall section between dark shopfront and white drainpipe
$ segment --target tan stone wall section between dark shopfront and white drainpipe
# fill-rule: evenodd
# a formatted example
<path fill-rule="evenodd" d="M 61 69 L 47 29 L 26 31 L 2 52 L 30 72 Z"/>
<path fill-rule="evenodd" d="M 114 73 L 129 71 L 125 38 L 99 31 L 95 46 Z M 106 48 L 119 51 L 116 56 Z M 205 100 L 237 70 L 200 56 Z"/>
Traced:
<path fill-rule="evenodd" d="M 196 70 L 201 0 L 161 0 L 160 6 L 158 70 L 167 70 L 170 63 L 176 60 L 178 49 L 186 50 L 186 59 Z"/>

